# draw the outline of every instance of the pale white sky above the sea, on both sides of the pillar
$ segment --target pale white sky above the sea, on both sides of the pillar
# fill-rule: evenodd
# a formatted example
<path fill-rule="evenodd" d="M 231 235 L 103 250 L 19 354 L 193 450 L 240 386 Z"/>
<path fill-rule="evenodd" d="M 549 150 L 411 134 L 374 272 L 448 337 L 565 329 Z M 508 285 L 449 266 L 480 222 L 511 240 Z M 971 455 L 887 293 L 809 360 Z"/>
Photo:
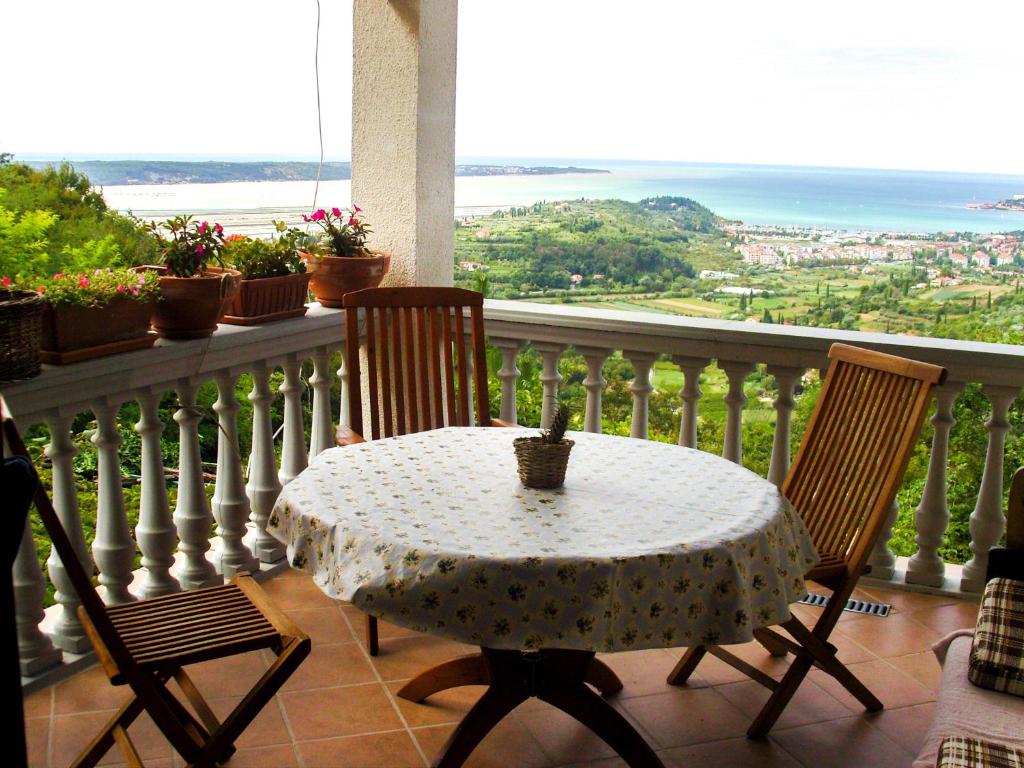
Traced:
<path fill-rule="evenodd" d="M 322 0 L 347 160 L 350 0 Z M 8 0 L 0 151 L 315 159 L 315 0 Z M 456 154 L 1024 174 L 1024 2 L 462 0 Z"/>

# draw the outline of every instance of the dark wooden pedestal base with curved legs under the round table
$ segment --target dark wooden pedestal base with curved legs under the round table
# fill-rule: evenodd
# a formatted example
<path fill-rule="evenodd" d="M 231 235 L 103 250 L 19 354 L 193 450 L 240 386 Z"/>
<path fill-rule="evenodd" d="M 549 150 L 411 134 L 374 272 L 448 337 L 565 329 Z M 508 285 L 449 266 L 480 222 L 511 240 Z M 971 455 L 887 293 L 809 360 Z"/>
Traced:
<path fill-rule="evenodd" d="M 407 683 L 398 695 L 422 701 L 431 693 L 461 685 L 487 685 L 483 696 L 466 714 L 434 763 L 436 768 L 459 768 L 484 736 L 512 710 L 537 696 L 571 715 L 603 738 L 631 768 L 662 768 L 654 751 L 603 694 L 623 684 L 593 651 L 539 651 L 480 648 L 480 653 L 438 665 Z"/>

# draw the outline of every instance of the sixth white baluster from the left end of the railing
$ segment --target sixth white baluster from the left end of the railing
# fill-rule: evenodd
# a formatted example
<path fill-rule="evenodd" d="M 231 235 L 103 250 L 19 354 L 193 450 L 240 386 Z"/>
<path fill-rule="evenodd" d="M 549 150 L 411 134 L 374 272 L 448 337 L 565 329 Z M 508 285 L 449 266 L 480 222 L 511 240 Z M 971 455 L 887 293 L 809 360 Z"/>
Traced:
<path fill-rule="evenodd" d="M 234 385 L 239 375 L 221 371 L 216 376 L 217 400 L 217 484 L 211 509 L 217 521 L 220 547 L 215 558 L 217 572 L 230 579 L 240 570 L 256 571 L 259 563 L 243 543 L 249 521 L 249 497 L 246 496 L 242 473 L 242 452 L 239 449 L 239 400 Z"/>

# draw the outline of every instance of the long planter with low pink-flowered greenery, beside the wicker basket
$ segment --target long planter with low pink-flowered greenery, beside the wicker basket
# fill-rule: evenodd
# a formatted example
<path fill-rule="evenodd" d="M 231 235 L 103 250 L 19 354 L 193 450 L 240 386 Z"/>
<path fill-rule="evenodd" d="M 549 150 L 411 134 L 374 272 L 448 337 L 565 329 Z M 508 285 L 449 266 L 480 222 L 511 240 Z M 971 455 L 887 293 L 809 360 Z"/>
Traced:
<path fill-rule="evenodd" d="M 96 269 L 88 273 L 57 272 L 44 280 L 39 293 L 43 309 L 40 357 L 63 366 L 153 346 L 150 332 L 157 297 L 154 272 Z"/>

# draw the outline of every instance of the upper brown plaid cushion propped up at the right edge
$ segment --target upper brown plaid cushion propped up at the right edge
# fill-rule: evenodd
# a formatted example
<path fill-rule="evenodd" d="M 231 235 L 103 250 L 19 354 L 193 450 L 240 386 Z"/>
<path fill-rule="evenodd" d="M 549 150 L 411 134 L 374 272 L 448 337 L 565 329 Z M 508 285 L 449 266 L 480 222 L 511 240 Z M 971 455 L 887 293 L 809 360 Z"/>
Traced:
<path fill-rule="evenodd" d="M 968 678 L 1024 696 L 1024 582 L 993 579 L 985 586 Z"/>

